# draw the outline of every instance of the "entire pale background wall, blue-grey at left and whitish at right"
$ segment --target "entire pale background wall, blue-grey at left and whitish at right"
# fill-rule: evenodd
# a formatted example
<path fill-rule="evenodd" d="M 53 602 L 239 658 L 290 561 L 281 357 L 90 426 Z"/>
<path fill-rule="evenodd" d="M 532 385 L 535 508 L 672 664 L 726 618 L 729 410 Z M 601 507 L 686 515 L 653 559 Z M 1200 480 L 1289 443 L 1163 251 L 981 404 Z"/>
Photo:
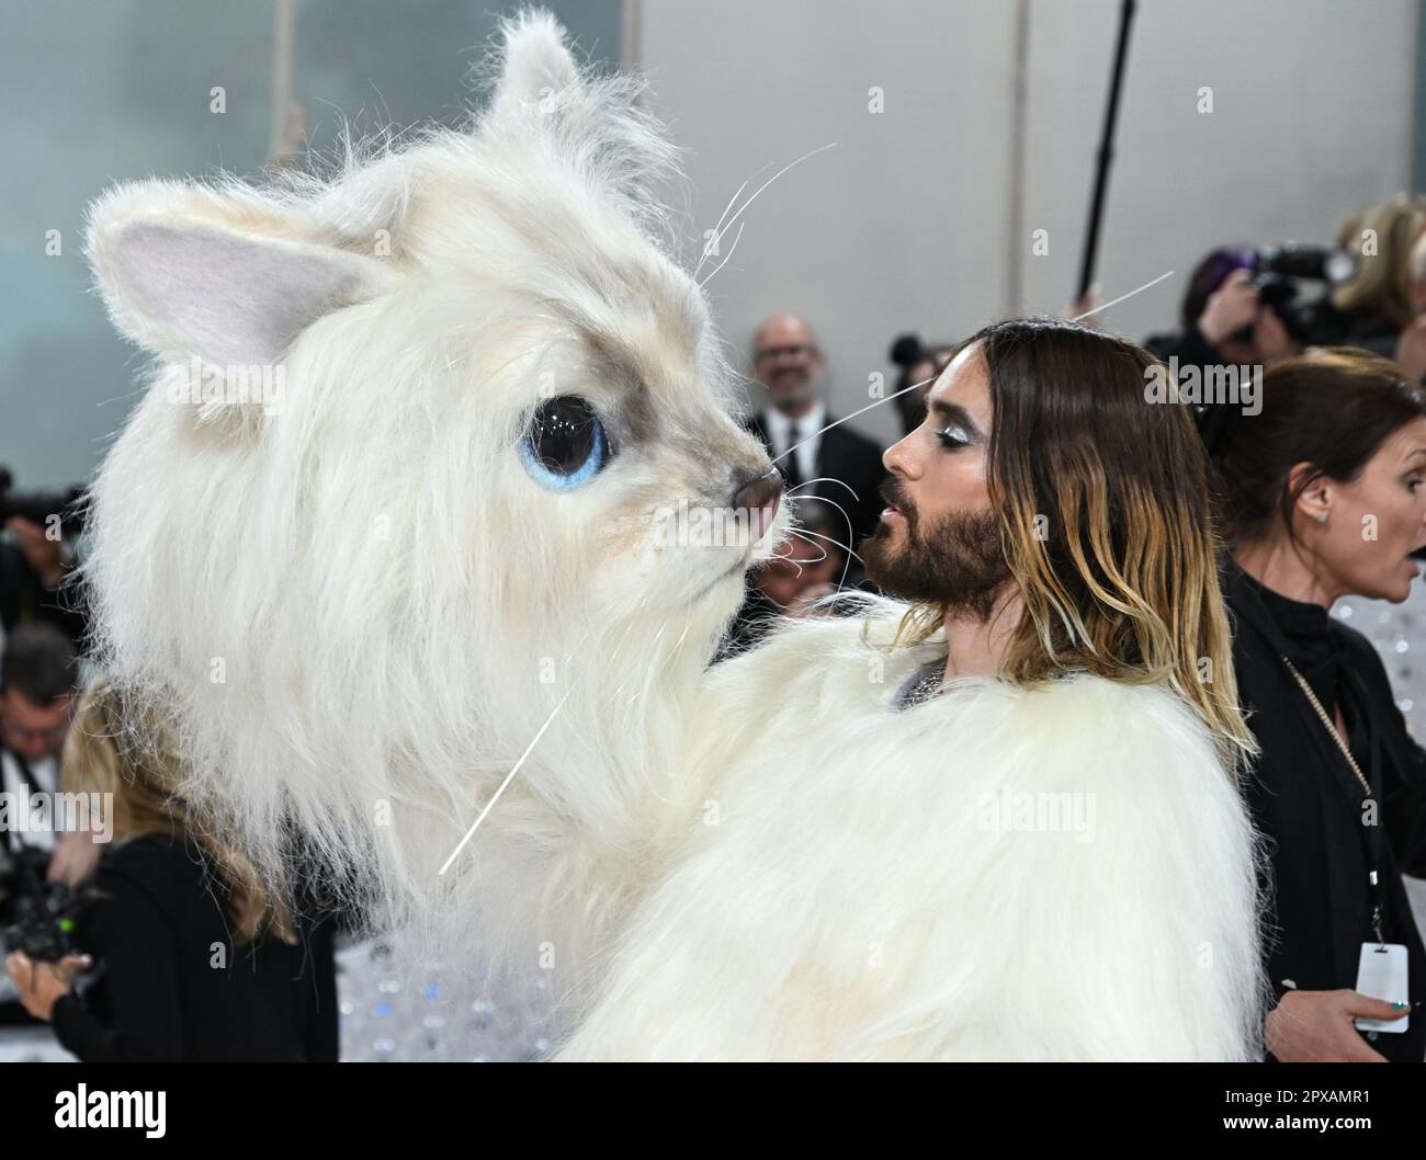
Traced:
<path fill-rule="evenodd" d="M 623 0 L 622 21 L 619 0 L 543 3 L 585 53 L 653 74 L 692 151 L 694 238 L 744 178 L 837 143 L 753 204 L 709 288 L 740 356 L 766 314 L 810 316 L 843 413 L 890 371 L 897 332 L 954 339 L 1072 294 L 1117 0 L 1025 0 L 1018 188 L 1020 0 Z M 453 115 L 495 13 L 515 4 L 301 0 L 295 83 L 318 140 L 338 114 L 358 127 Z M 1326 239 L 1345 209 L 1406 187 L 1417 7 L 1141 0 L 1101 279 L 1114 296 L 1178 275 L 1111 325 L 1134 338 L 1168 325 L 1215 244 Z M 271 24 L 271 0 L 0 0 L 0 93 L 21 110 L 0 167 L 0 463 L 19 486 L 88 476 L 133 402 L 140 359 L 87 292 L 86 204 L 118 178 L 257 168 Z M 230 103 L 214 117 L 220 83 Z M 873 86 L 881 114 L 867 111 Z M 1201 86 L 1212 115 L 1195 111 Z M 44 252 L 51 228 L 61 257 Z M 1050 231 L 1048 257 L 1031 257 L 1031 229 Z M 891 408 L 857 423 L 896 432 Z"/>

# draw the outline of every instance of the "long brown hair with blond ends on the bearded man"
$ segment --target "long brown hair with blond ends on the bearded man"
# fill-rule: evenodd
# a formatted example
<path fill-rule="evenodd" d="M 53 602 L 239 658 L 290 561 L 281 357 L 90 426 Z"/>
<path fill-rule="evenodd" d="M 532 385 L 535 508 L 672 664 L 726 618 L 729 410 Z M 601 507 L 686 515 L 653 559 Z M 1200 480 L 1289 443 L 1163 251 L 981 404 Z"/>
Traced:
<path fill-rule="evenodd" d="M 998 322 L 971 345 L 990 372 L 990 493 L 1025 606 L 1004 675 L 1168 684 L 1236 771 L 1255 744 L 1238 708 L 1208 460 L 1186 408 L 1148 400 L 1151 368 L 1166 369 L 1058 319 Z M 903 627 L 924 640 L 944 614 L 913 607 Z"/>

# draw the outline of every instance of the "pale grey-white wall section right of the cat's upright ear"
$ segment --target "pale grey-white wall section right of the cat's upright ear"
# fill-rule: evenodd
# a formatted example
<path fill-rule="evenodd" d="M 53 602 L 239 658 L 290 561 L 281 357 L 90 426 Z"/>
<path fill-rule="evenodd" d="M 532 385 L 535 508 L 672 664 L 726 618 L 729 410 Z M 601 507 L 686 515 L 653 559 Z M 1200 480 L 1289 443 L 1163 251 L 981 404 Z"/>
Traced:
<path fill-rule="evenodd" d="M 1232 241 L 1330 241 L 1410 175 L 1415 0 L 1142 0 L 1101 238 L 1131 338 L 1174 323 L 1188 274 Z M 746 352 L 809 316 L 841 413 L 906 329 L 954 339 L 1074 292 L 1117 0 L 1028 0 L 1022 237 L 1011 238 L 1015 0 L 639 0 L 626 43 L 686 145 L 697 231 L 739 184 L 836 141 L 769 188 L 710 284 Z M 868 113 L 868 88 L 886 111 Z M 1214 113 L 1196 111 L 1214 90 Z M 756 182 L 754 182 L 756 184 Z M 1031 229 L 1050 231 L 1031 257 Z M 1022 296 L 1011 302 L 1011 259 Z M 893 408 L 857 420 L 883 439 Z"/>

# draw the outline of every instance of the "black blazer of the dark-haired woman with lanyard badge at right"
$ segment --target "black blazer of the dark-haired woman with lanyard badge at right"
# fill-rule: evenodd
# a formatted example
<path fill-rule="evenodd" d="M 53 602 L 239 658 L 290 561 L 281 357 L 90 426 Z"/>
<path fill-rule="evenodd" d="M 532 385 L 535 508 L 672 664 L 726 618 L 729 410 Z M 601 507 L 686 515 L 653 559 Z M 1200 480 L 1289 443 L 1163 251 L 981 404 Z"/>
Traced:
<path fill-rule="evenodd" d="M 1373 938 L 1362 825 L 1366 795 L 1282 663 L 1292 650 L 1236 566 L 1225 569 L 1224 594 L 1233 621 L 1239 701 L 1262 747 L 1246 798 L 1268 846 L 1268 976 L 1279 998 L 1283 979 L 1292 979 L 1299 990 L 1352 989 L 1362 943 Z M 1340 644 L 1352 700 L 1366 715 L 1363 725 L 1380 740 L 1383 933 L 1387 942 L 1406 945 L 1410 998 L 1419 1002 L 1426 998 L 1426 952 L 1400 875 L 1426 871 L 1426 752 L 1406 732 L 1370 641 L 1335 618 L 1329 631 Z M 1353 757 L 1356 741 L 1353 735 Z M 1358 758 L 1358 764 L 1370 777 L 1368 761 Z M 1387 1059 L 1420 1063 L 1426 1056 L 1426 1008 L 1410 1013 L 1410 1030 L 1368 1039 Z"/>

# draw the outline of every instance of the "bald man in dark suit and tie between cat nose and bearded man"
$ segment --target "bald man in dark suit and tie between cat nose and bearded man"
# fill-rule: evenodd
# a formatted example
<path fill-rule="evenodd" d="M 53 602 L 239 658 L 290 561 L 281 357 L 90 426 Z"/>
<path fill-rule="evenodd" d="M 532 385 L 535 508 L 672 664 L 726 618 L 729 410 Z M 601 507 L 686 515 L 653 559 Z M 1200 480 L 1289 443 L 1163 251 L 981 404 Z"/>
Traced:
<path fill-rule="evenodd" d="M 763 440 L 787 477 L 793 499 L 804 510 L 829 512 L 838 529 L 837 539 L 854 550 L 858 540 L 876 532 L 881 519 L 886 504 L 880 486 L 886 469 L 878 443 L 847 423 L 830 426 L 836 416 L 827 412 L 821 398 L 826 366 L 827 359 L 806 321 L 789 314 L 769 318 L 753 339 L 753 373 L 767 389 L 767 406 L 750 416 L 746 426 Z M 786 455 L 789 449 L 796 450 Z M 850 517 L 850 540 L 847 520 L 831 504 L 840 504 Z M 847 579 L 848 583 L 860 579 L 856 561 Z"/>

